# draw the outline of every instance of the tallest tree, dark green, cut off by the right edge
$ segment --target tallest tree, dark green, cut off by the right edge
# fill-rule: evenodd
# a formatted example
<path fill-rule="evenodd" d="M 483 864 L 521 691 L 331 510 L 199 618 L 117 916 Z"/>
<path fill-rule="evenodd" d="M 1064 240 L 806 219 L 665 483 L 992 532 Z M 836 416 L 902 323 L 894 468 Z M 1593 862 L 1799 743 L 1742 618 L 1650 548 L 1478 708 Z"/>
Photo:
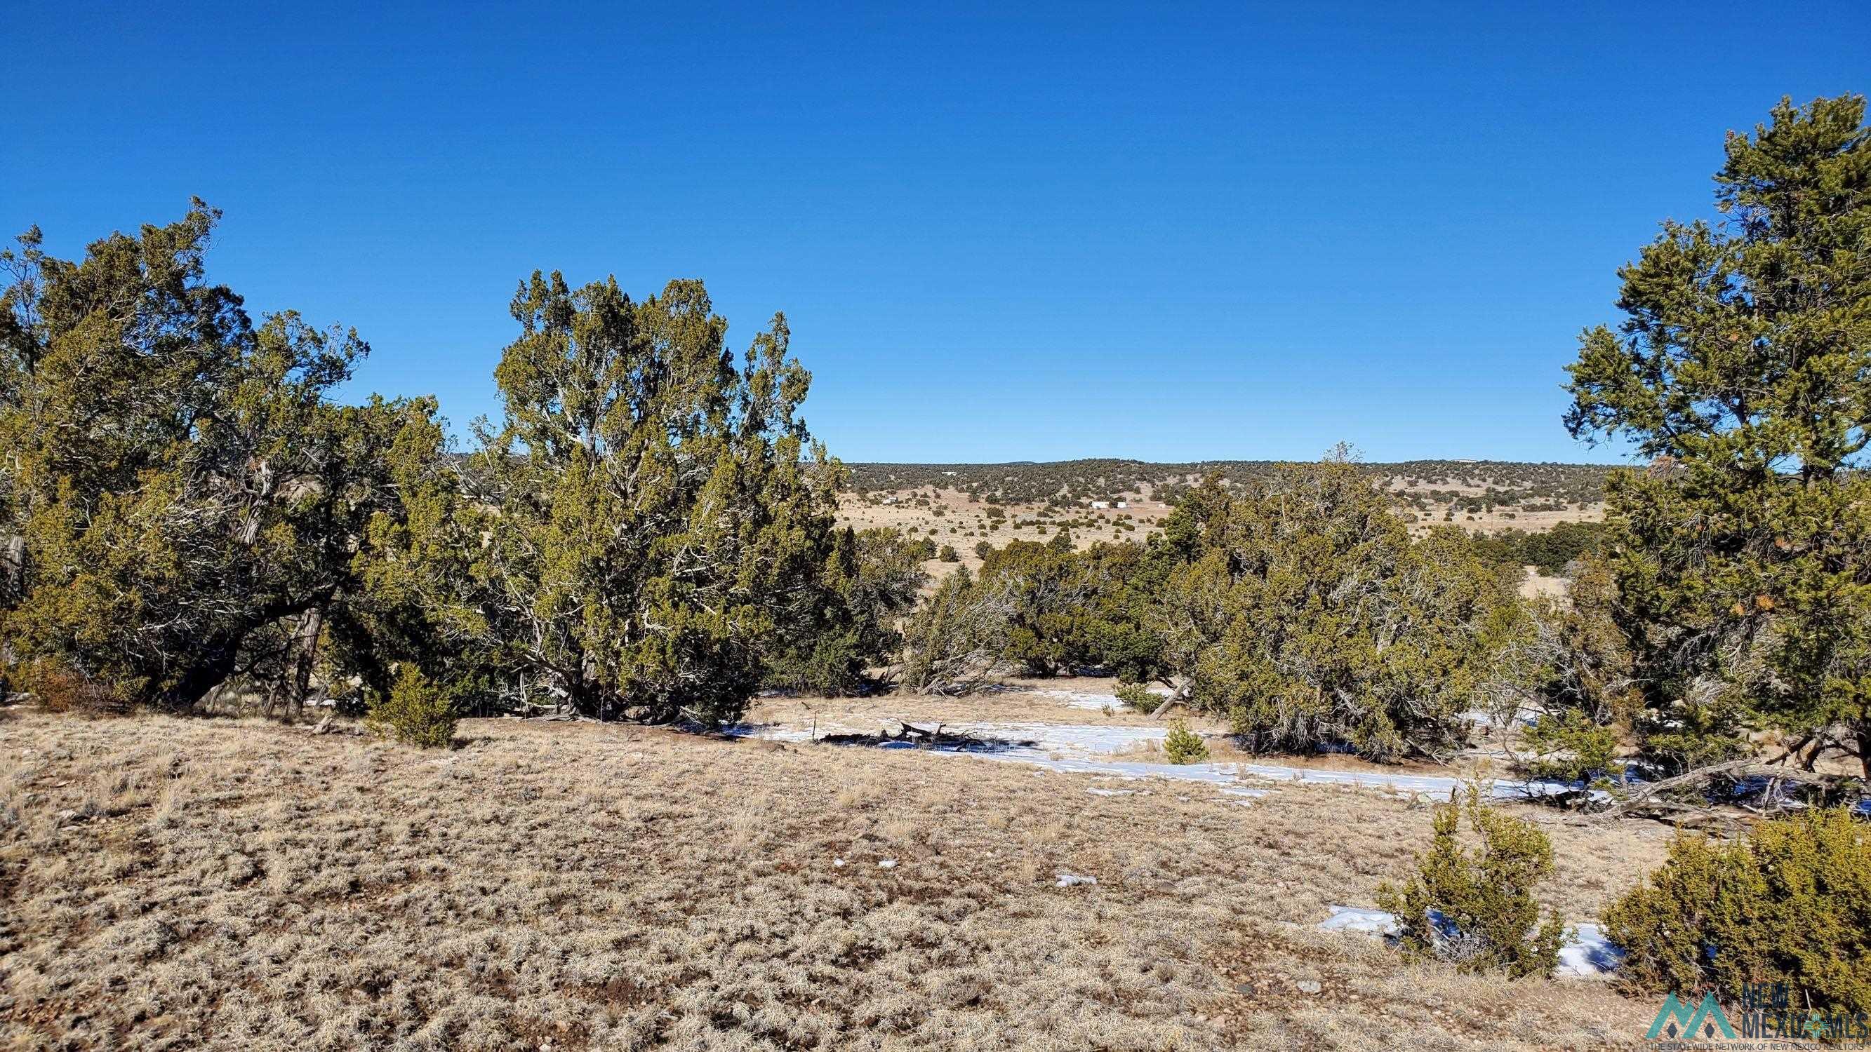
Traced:
<path fill-rule="evenodd" d="M 1568 426 L 1658 458 L 1609 486 L 1650 753 L 1774 727 L 1871 774 L 1871 131 L 1858 95 L 1729 135 L 1721 222 L 1665 222 L 1581 338 Z M 1834 729 L 1841 729 L 1835 732 Z"/>

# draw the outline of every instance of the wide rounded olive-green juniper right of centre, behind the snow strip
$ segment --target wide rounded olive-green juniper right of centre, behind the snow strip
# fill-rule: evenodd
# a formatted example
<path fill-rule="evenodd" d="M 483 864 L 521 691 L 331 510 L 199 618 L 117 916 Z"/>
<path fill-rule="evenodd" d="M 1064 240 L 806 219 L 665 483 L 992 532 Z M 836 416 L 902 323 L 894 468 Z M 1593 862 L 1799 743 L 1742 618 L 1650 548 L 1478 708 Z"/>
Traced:
<path fill-rule="evenodd" d="M 1465 534 L 1413 544 L 1345 458 L 1250 488 L 1211 478 L 1164 546 L 1168 663 L 1254 749 L 1343 742 L 1388 761 L 1448 746 L 1519 628 L 1508 577 Z"/>

